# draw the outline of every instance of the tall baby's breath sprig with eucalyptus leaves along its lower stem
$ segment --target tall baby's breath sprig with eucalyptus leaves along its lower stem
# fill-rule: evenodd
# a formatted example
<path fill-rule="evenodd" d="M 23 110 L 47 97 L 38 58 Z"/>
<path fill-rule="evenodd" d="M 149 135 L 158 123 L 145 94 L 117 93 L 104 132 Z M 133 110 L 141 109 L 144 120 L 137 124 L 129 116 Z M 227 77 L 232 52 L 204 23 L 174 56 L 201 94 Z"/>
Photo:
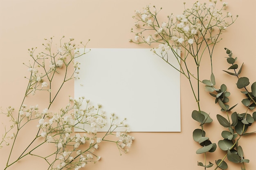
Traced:
<path fill-rule="evenodd" d="M 171 13 L 166 20 L 159 16 L 162 8 L 158 10 L 155 6 L 148 5 L 142 10 L 136 10 L 133 16 L 136 20 L 135 26 L 131 29 L 135 37 L 130 39 L 130 42 L 148 45 L 158 44 L 157 49 L 160 49 L 160 53 L 155 48 L 151 50 L 188 79 L 195 102 L 198 105 L 198 110 L 192 112 L 192 118 L 198 121 L 201 127 L 193 132 L 193 139 L 201 145 L 196 153 L 204 154 L 204 163 L 198 162 L 198 166 L 206 169 L 213 166 L 213 163 L 207 163 L 206 153 L 214 152 L 217 145 L 209 140 L 204 131 L 204 124 L 211 123 L 213 120 L 208 113 L 200 108 L 199 87 L 202 83 L 200 65 L 202 58 L 208 56 L 210 58 L 211 80 L 215 80 L 212 65 L 213 51 L 216 44 L 222 40 L 220 38 L 222 33 L 236 21 L 238 15 L 233 17 L 230 12 L 226 11 L 226 2 L 218 5 L 216 0 L 210 0 L 209 4 L 197 1 L 190 9 L 186 8 L 185 4 L 182 14 L 173 15 Z M 218 7 L 220 8 L 218 9 Z M 181 55 L 177 53 L 177 49 L 181 50 Z M 180 67 L 176 68 L 173 63 L 169 62 L 166 51 L 173 52 Z M 191 61 L 193 61 L 193 65 L 191 65 Z M 196 70 L 196 73 L 191 70 Z M 193 78 L 196 84 L 192 83 Z M 215 81 L 211 83 L 214 85 Z M 222 162 L 216 162 L 218 168 L 221 168 Z"/>

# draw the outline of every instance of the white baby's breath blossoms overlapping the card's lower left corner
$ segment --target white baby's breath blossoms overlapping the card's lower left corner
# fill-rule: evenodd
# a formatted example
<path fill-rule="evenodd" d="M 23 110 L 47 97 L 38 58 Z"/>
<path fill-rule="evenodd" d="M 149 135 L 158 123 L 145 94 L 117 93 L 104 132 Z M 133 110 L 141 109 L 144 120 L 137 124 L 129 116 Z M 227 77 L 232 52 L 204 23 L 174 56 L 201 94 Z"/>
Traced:
<path fill-rule="evenodd" d="M 101 105 L 98 105 L 97 108 L 89 106 L 89 100 L 86 101 L 87 106 L 83 109 L 83 100 L 84 97 L 77 100 L 70 97 L 70 103 L 65 108 L 61 108 L 60 113 L 52 115 L 48 109 L 44 109 L 36 114 L 38 117 L 37 127 L 42 130 L 40 136 L 45 138 L 45 142 L 54 144 L 58 150 L 59 163 L 56 165 L 57 169 L 65 167 L 78 170 L 83 168 L 89 161 L 98 161 L 101 157 L 96 156 L 93 152 L 99 148 L 98 144 L 107 135 L 114 133 L 110 131 L 103 138 L 97 137 L 98 128 L 106 125 L 105 113 L 100 112 Z M 72 105 L 72 103 L 74 104 Z M 74 113 L 70 114 L 69 110 L 73 109 Z M 117 143 L 119 150 L 128 152 L 126 147 L 130 148 L 132 140 L 134 140 L 134 137 L 128 135 L 128 125 L 124 121 L 117 121 L 115 114 L 112 114 L 111 120 L 110 129 L 115 130 L 119 127 L 126 127 L 126 132 L 116 132 L 116 136 L 119 139 L 115 143 Z M 83 134 L 76 133 L 76 135 L 72 136 L 72 128 L 77 123 L 88 124 L 93 130 L 84 128 L 85 132 Z"/>

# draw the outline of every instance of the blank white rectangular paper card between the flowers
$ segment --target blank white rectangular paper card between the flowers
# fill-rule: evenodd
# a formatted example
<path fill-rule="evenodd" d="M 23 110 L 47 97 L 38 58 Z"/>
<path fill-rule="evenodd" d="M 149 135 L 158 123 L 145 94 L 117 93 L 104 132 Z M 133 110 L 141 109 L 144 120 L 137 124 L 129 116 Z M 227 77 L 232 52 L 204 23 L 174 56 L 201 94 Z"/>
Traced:
<path fill-rule="evenodd" d="M 132 132 L 180 132 L 180 73 L 150 49 L 91 49 L 76 61 L 75 98 L 126 117 Z M 168 62 L 179 68 L 171 51 Z"/>

